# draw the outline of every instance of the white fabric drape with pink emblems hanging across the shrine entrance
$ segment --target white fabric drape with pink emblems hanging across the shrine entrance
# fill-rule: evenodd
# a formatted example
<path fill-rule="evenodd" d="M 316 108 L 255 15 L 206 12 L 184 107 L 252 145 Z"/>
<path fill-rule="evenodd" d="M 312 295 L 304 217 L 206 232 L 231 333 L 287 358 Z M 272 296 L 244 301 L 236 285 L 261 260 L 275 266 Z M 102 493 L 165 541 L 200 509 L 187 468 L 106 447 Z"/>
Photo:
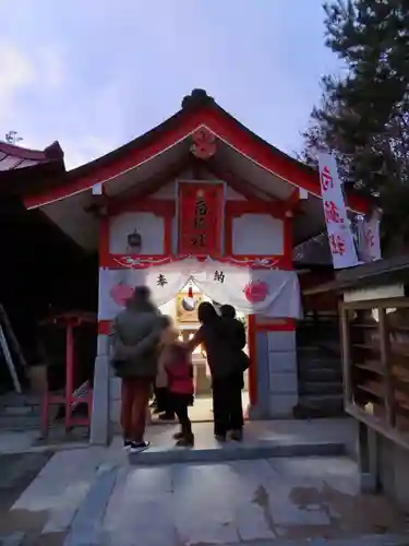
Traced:
<path fill-rule="evenodd" d="M 156 305 L 173 299 L 188 281 L 210 299 L 244 313 L 269 318 L 301 318 L 300 287 L 293 271 L 251 269 L 215 260 L 188 259 L 141 270 L 101 269 L 99 320 L 110 320 L 134 286 L 146 285 Z"/>

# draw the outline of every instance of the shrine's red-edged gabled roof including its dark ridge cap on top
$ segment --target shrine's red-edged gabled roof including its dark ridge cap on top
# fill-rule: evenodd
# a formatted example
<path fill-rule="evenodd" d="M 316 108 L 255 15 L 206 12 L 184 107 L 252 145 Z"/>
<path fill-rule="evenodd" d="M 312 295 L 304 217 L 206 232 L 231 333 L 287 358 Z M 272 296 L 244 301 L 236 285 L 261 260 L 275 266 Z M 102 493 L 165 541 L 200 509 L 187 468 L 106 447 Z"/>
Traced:
<path fill-rule="evenodd" d="M 205 91 L 194 90 L 183 98 L 182 107 L 177 114 L 145 134 L 59 177 L 49 177 L 27 186 L 24 191 L 25 204 L 28 209 L 43 206 L 88 190 L 95 183 L 112 180 L 166 155 L 167 151 L 189 140 L 190 135 L 202 127 L 207 128 L 219 141 L 257 167 L 316 197 L 321 195 L 316 170 L 254 134 L 217 105 Z M 187 150 L 189 151 L 189 147 Z M 368 203 L 352 191 L 347 192 L 347 201 L 349 207 L 356 212 L 368 211 Z"/>

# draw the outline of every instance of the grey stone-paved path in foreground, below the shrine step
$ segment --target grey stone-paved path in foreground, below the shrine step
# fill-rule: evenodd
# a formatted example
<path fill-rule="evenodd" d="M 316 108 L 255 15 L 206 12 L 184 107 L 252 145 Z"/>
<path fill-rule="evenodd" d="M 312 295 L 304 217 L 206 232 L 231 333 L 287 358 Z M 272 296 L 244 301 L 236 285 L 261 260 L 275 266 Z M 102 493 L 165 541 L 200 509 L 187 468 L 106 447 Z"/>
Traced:
<path fill-rule="evenodd" d="M 398 536 L 408 544 L 405 515 L 358 487 L 347 458 L 111 467 L 95 482 L 64 544 L 267 546 L 366 537 L 381 545 Z"/>

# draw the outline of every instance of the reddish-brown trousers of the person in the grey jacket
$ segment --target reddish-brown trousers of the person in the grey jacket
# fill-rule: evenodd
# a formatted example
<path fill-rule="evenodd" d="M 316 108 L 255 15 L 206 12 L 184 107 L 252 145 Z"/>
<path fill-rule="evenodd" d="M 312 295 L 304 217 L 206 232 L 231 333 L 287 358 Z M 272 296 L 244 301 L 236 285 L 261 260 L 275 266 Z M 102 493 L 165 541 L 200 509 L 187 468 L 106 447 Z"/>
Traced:
<path fill-rule="evenodd" d="M 149 378 L 122 379 L 121 427 L 125 440 L 141 442 L 144 439 L 151 389 Z"/>

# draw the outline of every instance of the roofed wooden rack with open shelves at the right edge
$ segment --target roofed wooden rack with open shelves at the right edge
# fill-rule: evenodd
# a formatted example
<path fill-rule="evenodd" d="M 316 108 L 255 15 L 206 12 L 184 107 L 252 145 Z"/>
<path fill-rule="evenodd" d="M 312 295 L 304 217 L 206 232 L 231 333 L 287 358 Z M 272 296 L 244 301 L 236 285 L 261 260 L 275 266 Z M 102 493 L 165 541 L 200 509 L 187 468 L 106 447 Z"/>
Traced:
<path fill-rule="evenodd" d="M 362 489 L 409 509 L 409 256 L 337 274 L 345 410 L 358 422 Z"/>

